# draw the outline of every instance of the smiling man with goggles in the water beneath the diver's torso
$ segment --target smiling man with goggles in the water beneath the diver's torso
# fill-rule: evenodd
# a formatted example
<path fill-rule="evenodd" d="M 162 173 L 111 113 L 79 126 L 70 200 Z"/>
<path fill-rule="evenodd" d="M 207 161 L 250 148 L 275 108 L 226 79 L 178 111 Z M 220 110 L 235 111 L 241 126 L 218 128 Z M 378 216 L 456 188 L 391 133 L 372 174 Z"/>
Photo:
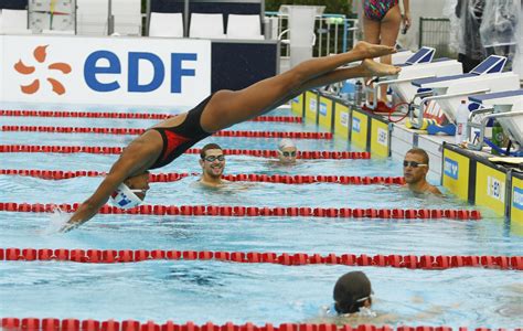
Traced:
<path fill-rule="evenodd" d="M 225 170 L 225 156 L 217 143 L 207 143 L 200 151 L 202 177 L 200 183 L 209 188 L 221 188 L 228 181 L 222 179 Z"/>

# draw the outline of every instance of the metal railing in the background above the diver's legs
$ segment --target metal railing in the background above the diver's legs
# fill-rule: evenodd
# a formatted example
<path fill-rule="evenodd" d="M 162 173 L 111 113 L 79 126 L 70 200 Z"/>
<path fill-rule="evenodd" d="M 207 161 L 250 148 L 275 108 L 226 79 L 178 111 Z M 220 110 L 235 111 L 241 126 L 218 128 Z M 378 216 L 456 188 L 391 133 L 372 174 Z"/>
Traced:
<path fill-rule="evenodd" d="M 276 11 L 266 11 L 265 17 L 275 22 L 276 28 L 268 39 L 282 39 L 288 29 L 288 15 Z M 316 43 L 312 50 L 313 56 L 342 53 L 352 49 L 356 40 L 359 25 L 357 20 L 348 19 L 344 14 L 318 15 L 314 22 Z M 270 30 L 270 29 L 269 29 Z M 289 45 L 281 44 L 281 55 L 289 56 Z"/>

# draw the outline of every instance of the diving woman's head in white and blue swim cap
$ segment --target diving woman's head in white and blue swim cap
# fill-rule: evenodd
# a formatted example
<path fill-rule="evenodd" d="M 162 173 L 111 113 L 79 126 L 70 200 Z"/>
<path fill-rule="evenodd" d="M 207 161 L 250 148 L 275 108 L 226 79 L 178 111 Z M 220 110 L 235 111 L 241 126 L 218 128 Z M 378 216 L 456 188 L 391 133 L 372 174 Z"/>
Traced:
<path fill-rule="evenodd" d="M 149 190 L 149 171 L 130 177 L 113 192 L 109 197 L 114 206 L 132 209 L 140 205 Z"/>

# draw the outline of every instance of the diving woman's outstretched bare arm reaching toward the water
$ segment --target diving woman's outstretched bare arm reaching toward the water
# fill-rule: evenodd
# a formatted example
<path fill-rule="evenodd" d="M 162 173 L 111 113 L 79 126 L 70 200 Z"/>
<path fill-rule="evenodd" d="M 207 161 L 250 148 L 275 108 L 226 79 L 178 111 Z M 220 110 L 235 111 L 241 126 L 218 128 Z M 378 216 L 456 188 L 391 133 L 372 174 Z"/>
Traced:
<path fill-rule="evenodd" d="M 131 142 L 113 164 L 107 177 L 96 189 L 95 193 L 84 201 L 74 212 L 73 216 L 60 229 L 68 232 L 93 218 L 100 207 L 107 203 L 110 194 L 127 178 L 150 166 L 158 157 L 158 150 L 151 148 L 147 141 L 136 140 Z M 152 161 L 151 161 L 152 160 Z"/>

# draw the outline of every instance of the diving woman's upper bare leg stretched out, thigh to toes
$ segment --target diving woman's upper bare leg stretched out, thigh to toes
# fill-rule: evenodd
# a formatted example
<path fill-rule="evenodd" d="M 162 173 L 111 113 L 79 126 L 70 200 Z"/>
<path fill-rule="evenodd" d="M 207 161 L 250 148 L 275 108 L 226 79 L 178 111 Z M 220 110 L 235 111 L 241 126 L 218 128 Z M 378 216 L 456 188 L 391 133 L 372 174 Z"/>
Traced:
<path fill-rule="evenodd" d="M 220 90 L 211 98 L 202 113 L 202 128 L 207 132 L 215 132 L 250 119 L 273 109 L 271 106 L 275 103 L 285 102 L 290 93 L 299 89 L 310 79 L 332 72 L 346 63 L 393 52 L 393 47 L 360 42 L 350 52 L 302 62 L 280 75 L 266 78 L 242 90 Z M 346 70 L 354 72 L 352 77 L 359 77 L 359 70 Z"/>

